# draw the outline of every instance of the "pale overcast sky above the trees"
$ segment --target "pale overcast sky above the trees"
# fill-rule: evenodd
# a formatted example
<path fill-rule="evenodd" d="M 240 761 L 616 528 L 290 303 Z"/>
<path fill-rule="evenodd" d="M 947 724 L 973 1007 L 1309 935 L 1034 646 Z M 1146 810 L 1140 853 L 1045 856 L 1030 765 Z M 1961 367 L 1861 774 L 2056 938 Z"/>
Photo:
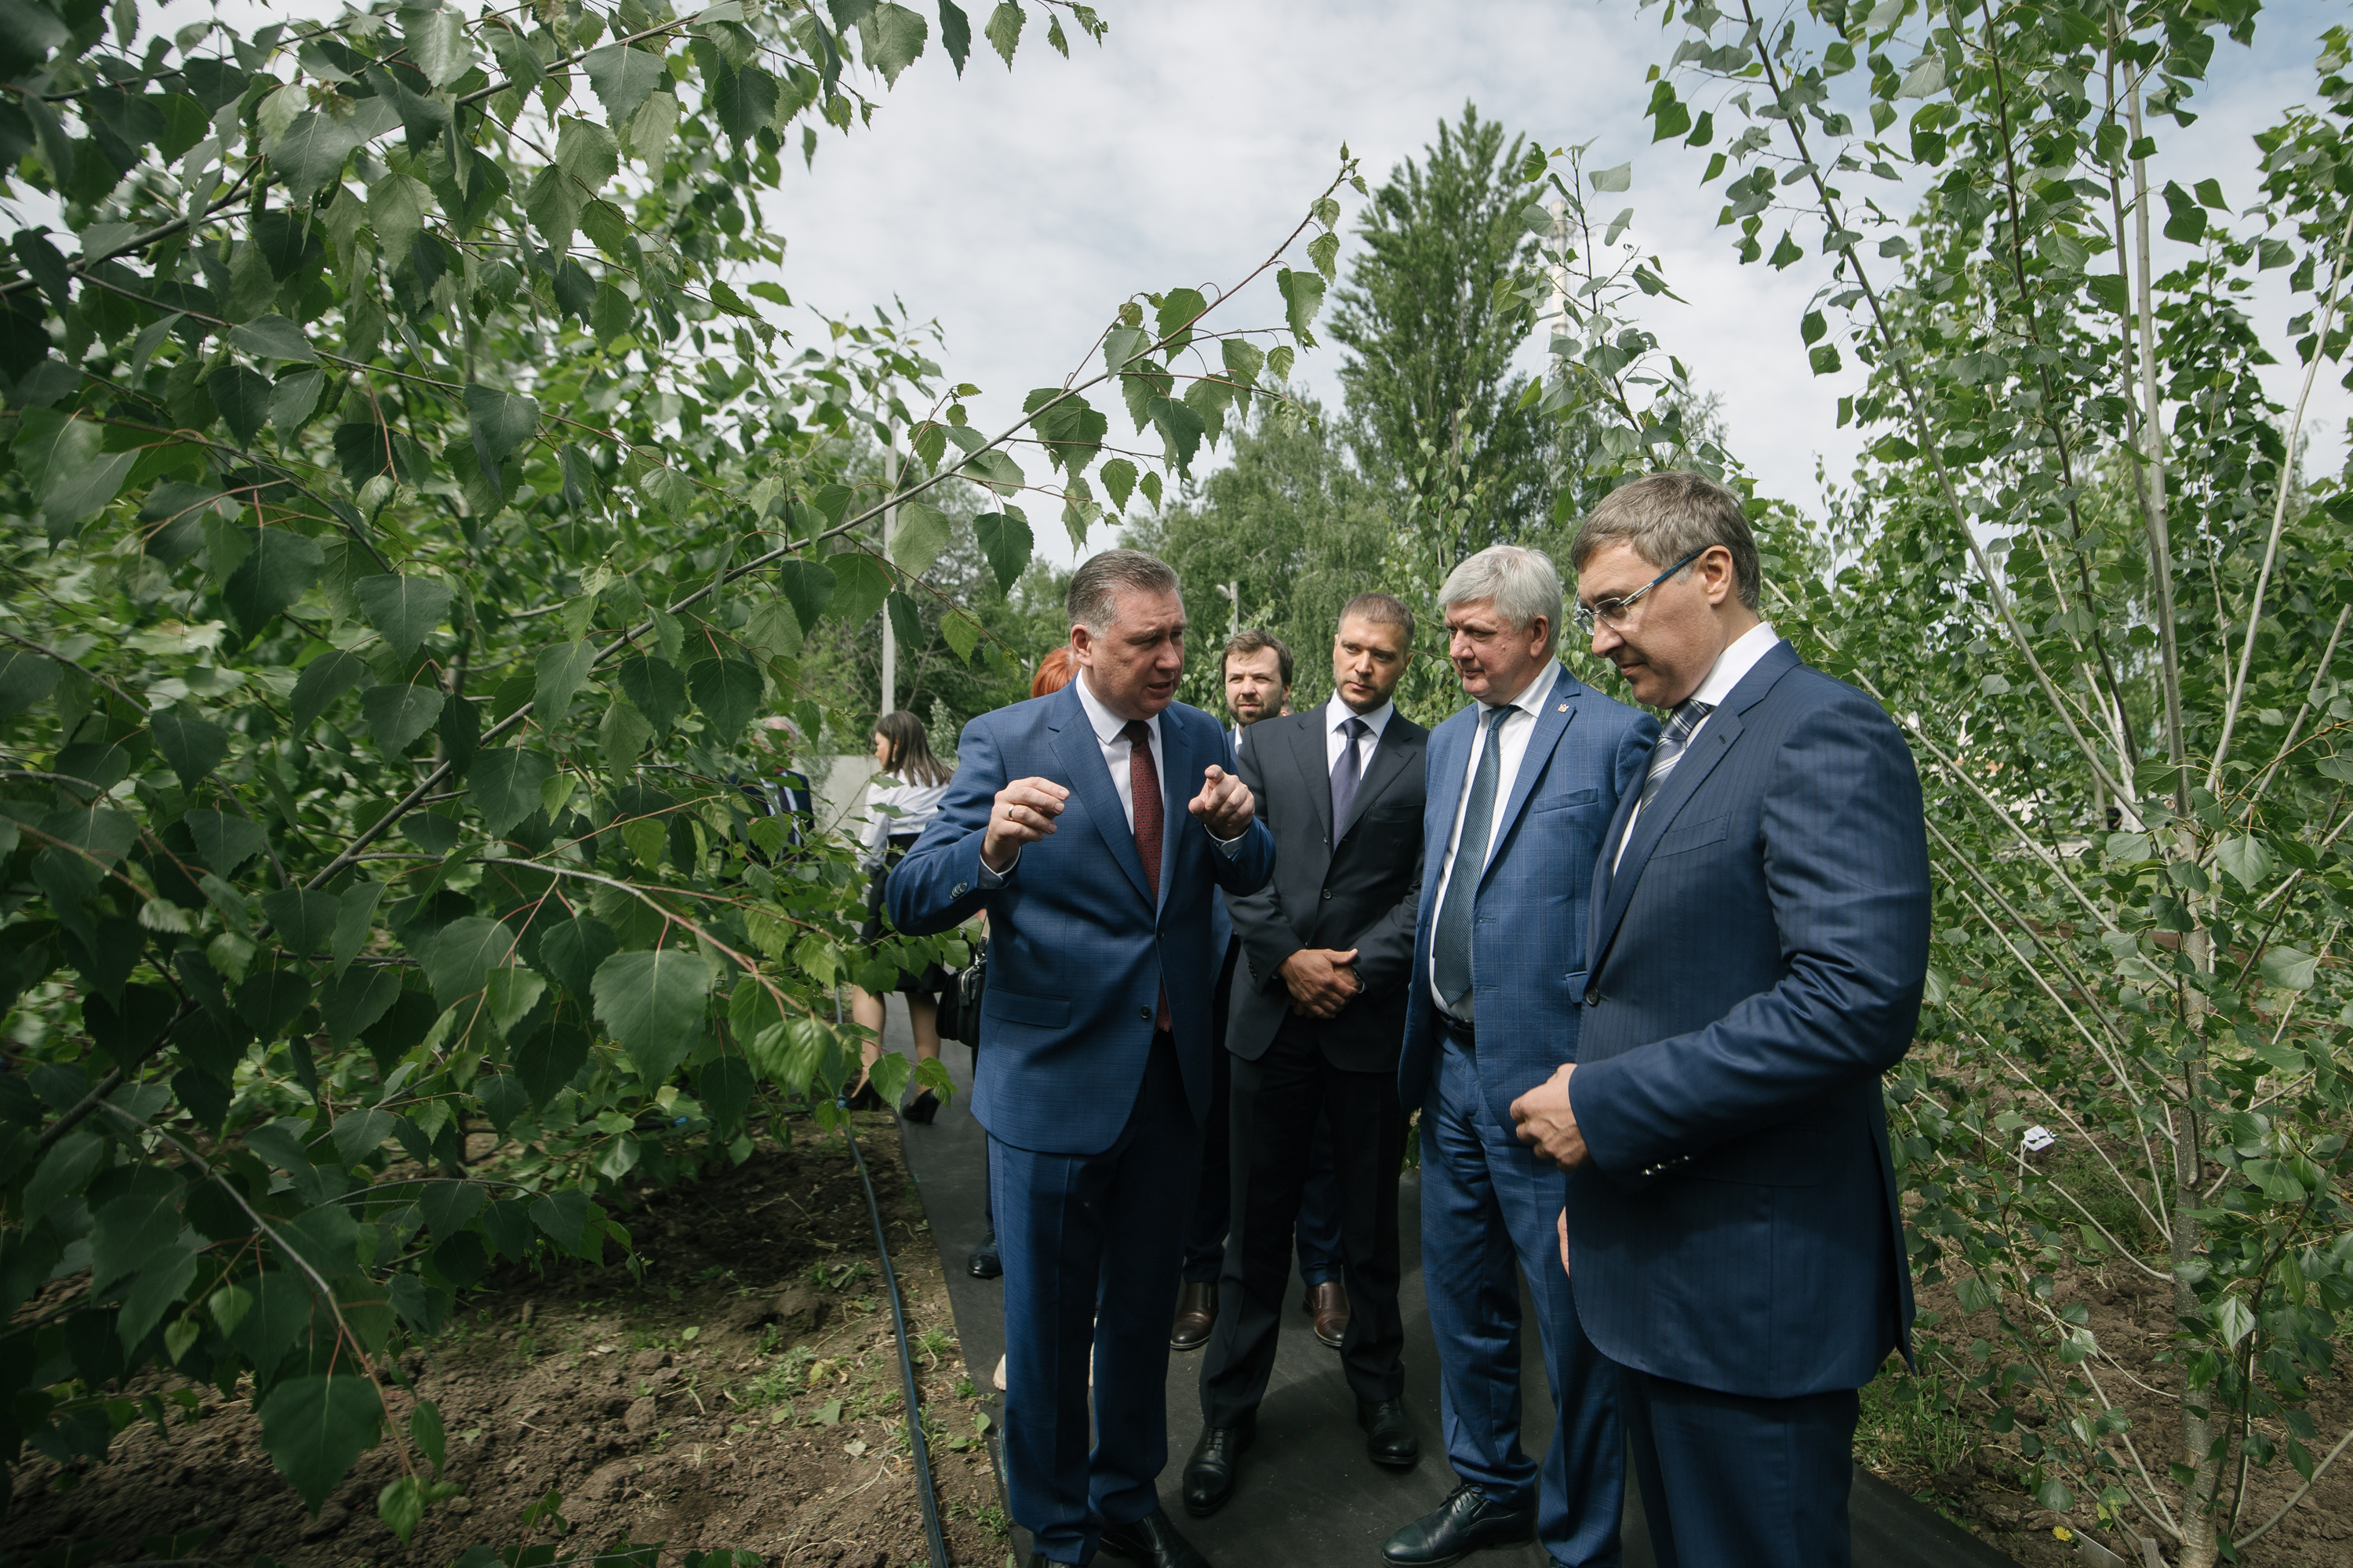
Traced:
<path fill-rule="evenodd" d="M 1812 256 L 1786 273 L 1739 266 L 1732 230 L 1715 228 L 1722 186 L 1699 190 L 1704 155 L 1647 141 L 1642 78 L 1680 40 L 1680 28 L 1659 31 L 1657 9 L 1631 0 L 1113 0 L 1101 14 L 1111 21 L 1101 47 L 1075 38 L 1064 61 L 1033 26 L 1009 73 L 976 45 L 955 80 L 934 40 L 882 96 L 873 127 L 826 132 L 814 172 L 769 197 L 791 242 L 784 282 L 793 299 L 866 315 L 868 303 L 896 296 L 915 317 L 936 317 L 951 381 L 986 390 L 974 423 L 995 430 L 1019 416 L 1028 388 L 1068 374 L 1129 294 L 1249 273 L 1332 179 L 1341 143 L 1379 186 L 1398 160 L 1419 155 L 1440 118 L 1475 101 L 1548 148 L 1593 141 L 1591 167 L 1633 158 L 1624 197 L 1635 207 L 1633 237 L 1664 259 L 1689 301 L 1652 301 L 1659 308 L 1645 324 L 1704 390 L 1722 395 L 1732 449 L 1769 494 L 1812 503 L 1817 458 L 1833 477 L 1852 468 L 1854 433 L 1835 425 L 1859 367 L 1847 355 L 1849 371 L 1814 378 L 1798 339 L 1826 268 Z M 2341 14 L 2308 0 L 2266 7 L 2257 49 L 2221 42 L 2200 122 L 2160 127 L 2179 160 L 2169 174 L 2184 186 L 2219 176 L 2235 207 L 2252 202 L 2247 136 L 2285 103 L 2311 99 L 2313 40 Z M 1344 193 L 1344 270 L 1360 205 Z M 1819 244 L 1819 226 L 1798 233 L 1809 252 Z M 2275 339 L 2289 310 L 2273 294 L 2259 327 Z M 1238 322 L 1280 320 L 1268 284 L 1233 308 Z M 1304 383 L 1332 407 L 1339 364 L 1329 343 L 1301 355 Z M 2294 397 L 2289 369 L 2273 374 L 2273 395 Z M 2315 473 L 2332 473 L 2348 409 L 2334 376 L 2322 376 L 2313 409 L 2327 425 L 2313 444 Z M 1068 559 L 1061 529 L 1038 522 L 1040 548 Z M 1089 538 L 1108 543 L 1108 529 Z"/>

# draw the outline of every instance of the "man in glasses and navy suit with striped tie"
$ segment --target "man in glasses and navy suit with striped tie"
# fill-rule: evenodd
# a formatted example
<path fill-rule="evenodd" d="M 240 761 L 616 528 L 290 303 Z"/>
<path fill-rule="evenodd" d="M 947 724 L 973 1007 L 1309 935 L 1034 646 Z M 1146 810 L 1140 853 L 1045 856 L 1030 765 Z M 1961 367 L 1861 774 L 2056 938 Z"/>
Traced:
<path fill-rule="evenodd" d="M 1737 496 L 1635 480 L 1574 559 L 1593 651 L 1675 717 L 1593 872 L 1577 1056 L 1513 1114 L 1569 1171 L 1659 1563 L 1845 1568 L 1854 1392 L 1911 1326 L 1880 1072 L 1927 978 L 1920 778 L 1758 621 Z"/>

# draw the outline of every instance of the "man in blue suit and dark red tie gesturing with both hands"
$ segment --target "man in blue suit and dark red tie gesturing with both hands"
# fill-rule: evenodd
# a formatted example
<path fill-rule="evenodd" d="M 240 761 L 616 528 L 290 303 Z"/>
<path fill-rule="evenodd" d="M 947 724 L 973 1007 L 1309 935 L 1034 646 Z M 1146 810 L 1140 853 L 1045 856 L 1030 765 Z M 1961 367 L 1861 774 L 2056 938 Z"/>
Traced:
<path fill-rule="evenodd" d="M 1209 1110 L 1209 900 L 1266 886 L 1275 844 L 1217 719 L 1174 701 L 1184 632 L 1165 562 L 1087 559 L 1078 679 L 965 726 L 887 889 L 911 936 L 988 910 L 972 1114 L 1005 1262 L 1005 1483 L 1033 1563 L 1101 1544 L 1205 1568 L 1155 1486 L 1169 1309 Z"/>

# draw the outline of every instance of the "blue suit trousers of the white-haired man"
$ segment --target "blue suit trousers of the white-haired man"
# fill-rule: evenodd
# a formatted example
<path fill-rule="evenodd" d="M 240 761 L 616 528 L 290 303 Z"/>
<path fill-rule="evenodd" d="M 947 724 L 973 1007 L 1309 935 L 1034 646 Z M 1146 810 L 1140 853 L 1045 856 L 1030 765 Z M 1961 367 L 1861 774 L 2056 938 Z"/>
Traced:
<path fill-rule="evenodd" d="M 1617 1568 L 1626 1497 L 1619 1373 L 1586 1338 L 1560 1272 L 1560 1171 L 1497 1126 L 1478 1063 L 1452 1034 L 1421 1112 L 1421 1286 L 1438 1338 L 1438 1413 L 1454 1474 L 1489 1497 L 1537 1497 L 1555 1563 Z M 1520 1274 L 1537 1302 L 1553 1443 L 1520 1450 Z M 1694 1559 L 1701 1561 L 1701 1559 Z"/>

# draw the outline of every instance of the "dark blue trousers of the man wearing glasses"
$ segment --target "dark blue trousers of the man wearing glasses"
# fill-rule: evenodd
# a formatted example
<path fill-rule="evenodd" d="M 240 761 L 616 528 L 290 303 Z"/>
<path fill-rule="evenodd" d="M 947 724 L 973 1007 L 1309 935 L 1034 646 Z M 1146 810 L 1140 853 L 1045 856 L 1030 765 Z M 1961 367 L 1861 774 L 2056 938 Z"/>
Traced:
<path fill-rule="evenodd" d="M 1847 1568 L 1854 1389 L 1755 1399 L 1619 1368 L 1659 1568 Z"/>

